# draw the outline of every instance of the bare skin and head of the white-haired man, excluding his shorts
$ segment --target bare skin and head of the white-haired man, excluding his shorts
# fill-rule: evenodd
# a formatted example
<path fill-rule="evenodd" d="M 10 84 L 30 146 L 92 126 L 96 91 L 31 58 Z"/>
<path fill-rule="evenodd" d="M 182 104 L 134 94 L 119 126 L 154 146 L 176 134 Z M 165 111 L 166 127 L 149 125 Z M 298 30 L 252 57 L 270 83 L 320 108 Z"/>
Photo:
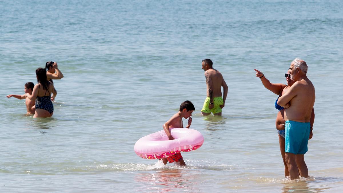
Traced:
<path fill-rule="evenodd" d="M 299 67 L 295 68 L 294 63 Z M 280 96 L 277 104 L 285 108 L 284 117 L 286 121 L 309 123 L 310 128 L 312 128 L 315 118 L 313 106 L 316 96 L 315 88 L 306 76 L 307 64 L 304 60 L 296 58 L 292 61 L 289 69 L 291 69 L 291 79 L 296 82 L 291 86 L 288 92 Z M 311 132 L 312 131 L 309 133 L 309 138 L 312 137 Z M 296 144 L 292 146 L 297 147 Z M 287 163 L 289 177 L 292 180 L 299 178 L 299 174 L 301 177 L 308 177 L 308 169 L 304 160 L 304 154 L 293 151 L 285 152 L 285 161 Z"/>

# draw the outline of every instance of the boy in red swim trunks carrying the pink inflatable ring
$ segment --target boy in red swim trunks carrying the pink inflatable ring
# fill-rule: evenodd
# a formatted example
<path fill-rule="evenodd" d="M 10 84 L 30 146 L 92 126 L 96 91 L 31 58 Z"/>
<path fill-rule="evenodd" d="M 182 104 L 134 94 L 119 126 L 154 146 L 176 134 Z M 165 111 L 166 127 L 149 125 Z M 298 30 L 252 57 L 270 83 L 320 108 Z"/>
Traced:
<path fill-rule="evenodd" d="M 182 118 L 185 118 L 185 119 L 188 118 L 188 125 L 186 126 L 186 128 L 189 128 L 191 126 L 191 124 L 192 124 L 191 116 L 192 116 L 192 113 L 194 110 L 195 110 L 195 108 L 194 108 L 194 105 L 192 102 L 185 101 L 185 102 L 181 103 L 179 112 L 177 112 L 175 115 L 173 115 L 163 125 L 164 132 L 166 132 L 166 135 L 168 136 L 169 140 L 174 139 L 174 137 L 171 136 L 171 132 L 170 132 L 171 129 L 173 129 L 173 128 L 184 128 Z M 163 158 L 162 161 L 165 165 L 169 161 L 169 163 L 175 162 L 177 165 L 186 166 L 186 163 L 185 163 L 184 159 L 182 158 L 180 152 L 178 152 L 177 154 L 175 154 L 173 156 Z"/>

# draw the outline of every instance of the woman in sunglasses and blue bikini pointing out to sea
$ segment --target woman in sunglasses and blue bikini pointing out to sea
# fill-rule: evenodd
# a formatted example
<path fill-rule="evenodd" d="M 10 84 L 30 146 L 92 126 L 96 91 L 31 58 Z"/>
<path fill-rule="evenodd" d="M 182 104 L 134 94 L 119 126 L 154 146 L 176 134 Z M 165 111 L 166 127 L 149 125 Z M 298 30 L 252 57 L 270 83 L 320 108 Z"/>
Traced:
<path fill-rule="evenodd" d="M 277 129 L 277 133 L 279 133 L 278 136 L 279 136 L 280 151 L 281 151 L 281 156 L 283 159 L 283 164 L 285 165 L 285 177 L 287 177 L 289 176 L 289 173 L 288 173 L 287 164 L 285 162 L 285 125 L 284 125 L 285 124 L 285 118 L 284 118 L 285 110 L 283 109 L 282 106 L 277 105 L 277 100 L 279 99 L 280 96 L 282 96 L 283 93 L 288 91 L 289 87 L 291 87 L 295 81 L 291 80 L 290 69 L 288 69 L 288 72 L 285 74 L 287 85 L 282 84 L 282 83 L 276 83 L 276 84 L 270 83 L 269 80 L 265 78 L 262 72 L 256 69 L 254 70 L 256 71 L 256 77 L 259 77 L 261 79 L 263 86 L 266 89 L 272 91 L 273 93 L 279 95 L 275 101 L 275 108 L 279 110 L 276 116 L 275 125 Z"/>

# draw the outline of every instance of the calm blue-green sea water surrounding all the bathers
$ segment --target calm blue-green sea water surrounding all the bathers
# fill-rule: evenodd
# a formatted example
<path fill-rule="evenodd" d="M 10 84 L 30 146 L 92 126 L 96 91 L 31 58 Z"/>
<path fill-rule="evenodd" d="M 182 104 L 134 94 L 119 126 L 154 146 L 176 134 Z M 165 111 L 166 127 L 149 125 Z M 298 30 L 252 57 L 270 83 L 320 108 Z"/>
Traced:
<path fill-rule="evenodd" d="M 0 192 L 341 192 L 343 2 L 0 0 Z M 316 88 L 310 178 L 291 182 L 271 82 L 300 57 Z M 202 117 L 201 60 L 229 90 L 222 117 Z M 52 118 L 25 116 L 24 84 L 56 61 Z M 145 160 L 135 141 L 181 102 L 203 146 L 187 167 Z M 187 124 L 187 121 L 184 121 Z"/>

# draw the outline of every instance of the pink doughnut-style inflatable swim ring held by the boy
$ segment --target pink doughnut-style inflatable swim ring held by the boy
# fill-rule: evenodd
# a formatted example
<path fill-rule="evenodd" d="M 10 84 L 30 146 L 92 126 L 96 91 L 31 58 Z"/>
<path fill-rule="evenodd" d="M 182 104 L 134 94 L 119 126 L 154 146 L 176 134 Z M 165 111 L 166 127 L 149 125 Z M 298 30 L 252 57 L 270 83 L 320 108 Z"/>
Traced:
<path fill-rule="evenodd" d="M 180 151 L 194 151 L 204 143 L 200 132 L 187 128 L 170 129 L 174 140 L 168 140 L 164 130 L 140 138 L 134 144 L 134 151 L 144 159 L 162 159 Z"/>

